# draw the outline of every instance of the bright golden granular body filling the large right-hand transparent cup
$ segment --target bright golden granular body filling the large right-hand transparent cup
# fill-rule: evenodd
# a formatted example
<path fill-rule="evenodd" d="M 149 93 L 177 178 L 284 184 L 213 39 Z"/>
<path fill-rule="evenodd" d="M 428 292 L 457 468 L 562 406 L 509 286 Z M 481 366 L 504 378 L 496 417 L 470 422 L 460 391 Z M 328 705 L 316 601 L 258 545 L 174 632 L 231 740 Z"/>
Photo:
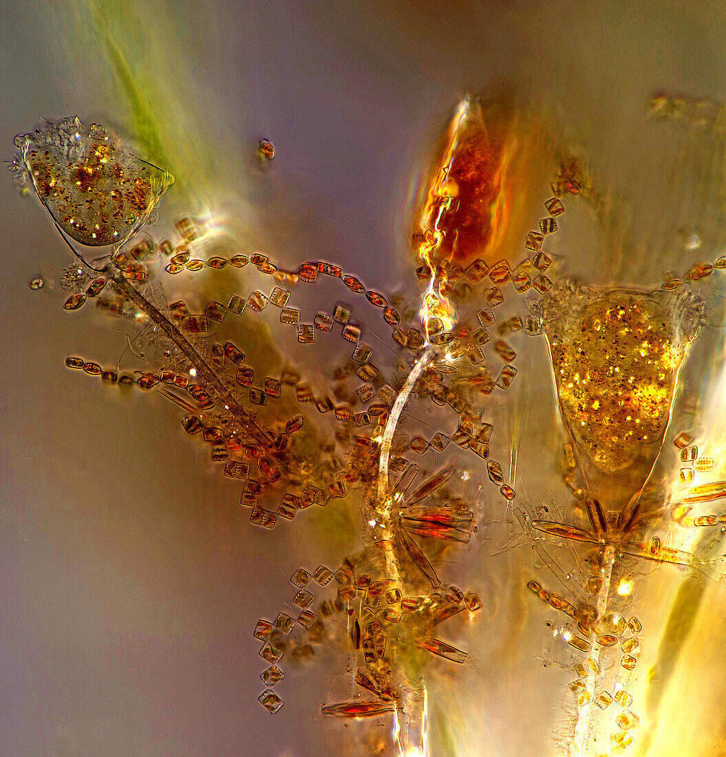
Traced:
<path fill-rule="evenodd" d="M 588 458 L 605 471 L 631 465 L 668 424 L 678 369 L 695 334 L 681 333 L 666 297 L 572 286 L 545 305 L 562 413 Z"/>

